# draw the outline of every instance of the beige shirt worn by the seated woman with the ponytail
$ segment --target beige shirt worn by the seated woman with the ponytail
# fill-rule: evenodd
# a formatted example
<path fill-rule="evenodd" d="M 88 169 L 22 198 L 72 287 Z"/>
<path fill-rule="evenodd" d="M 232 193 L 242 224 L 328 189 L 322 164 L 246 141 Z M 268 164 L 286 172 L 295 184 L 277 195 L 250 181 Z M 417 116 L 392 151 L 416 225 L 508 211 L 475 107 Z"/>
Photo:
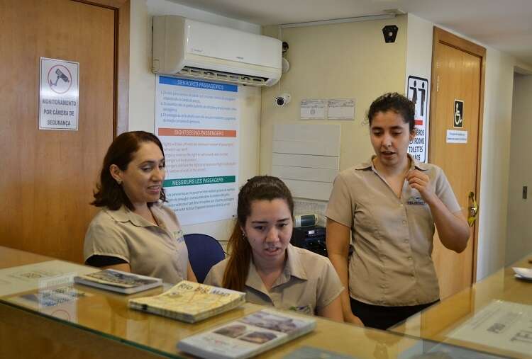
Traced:
<path fill-rule="evenodd" d="M 211 268 L 204 283 L 221 287 L 227 263 L 228 258 Z M 245 280 L 248 302 L 306 314 L 316 314 L 317 309 L 331 304 L 342 290 L 340 278 L 328 258 L 292 244 L 287 247 L 284 270 L 270 290 L 262 283 L 253 261 Z"/>

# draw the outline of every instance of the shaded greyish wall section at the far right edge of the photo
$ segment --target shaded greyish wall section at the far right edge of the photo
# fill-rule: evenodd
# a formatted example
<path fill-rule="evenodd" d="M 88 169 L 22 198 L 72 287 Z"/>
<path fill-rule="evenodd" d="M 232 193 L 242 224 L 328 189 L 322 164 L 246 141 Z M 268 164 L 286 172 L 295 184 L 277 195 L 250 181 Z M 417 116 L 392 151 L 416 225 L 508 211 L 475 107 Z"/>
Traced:
<path fill-rule="evenodd" d="M 532 75 L 514 76 L 506 265 L 532 252 Z M 522 198 L 528 186 L 528 198 Z"/>

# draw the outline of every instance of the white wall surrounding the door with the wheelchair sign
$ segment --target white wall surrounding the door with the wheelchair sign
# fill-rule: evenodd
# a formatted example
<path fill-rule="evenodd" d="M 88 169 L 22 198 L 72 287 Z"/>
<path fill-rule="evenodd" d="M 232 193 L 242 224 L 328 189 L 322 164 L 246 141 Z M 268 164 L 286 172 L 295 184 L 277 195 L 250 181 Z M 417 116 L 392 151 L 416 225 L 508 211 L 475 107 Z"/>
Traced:
<path fill-rule="evenodd" d="M 406 54 L 407 74 L 426 72 L 430 78 L 433 26 L 409 15 Z M 438 26 L 438 25 L 437 25 Z M 504 266 L 506 205 L 510 161 L 511 96 L 516 60 L 475 39 L 438 26 L 486 48 L 484 123 L 482 128 L 482 177 L 478 219 L 477 280 Z M 430 43 L 428 38 L 430 35 Z M 429 144 L 430 146 L 430 144 Z"/>

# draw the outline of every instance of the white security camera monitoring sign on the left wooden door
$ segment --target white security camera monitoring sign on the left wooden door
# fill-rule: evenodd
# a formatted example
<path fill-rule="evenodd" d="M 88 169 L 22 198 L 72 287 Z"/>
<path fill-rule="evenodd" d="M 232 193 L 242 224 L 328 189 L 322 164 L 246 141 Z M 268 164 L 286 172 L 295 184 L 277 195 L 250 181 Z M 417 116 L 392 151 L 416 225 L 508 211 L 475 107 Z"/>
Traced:
<path fill-rule="evenodd" d="M 79 62 L 40 58 L 39 130 L 77 131 Z"/>

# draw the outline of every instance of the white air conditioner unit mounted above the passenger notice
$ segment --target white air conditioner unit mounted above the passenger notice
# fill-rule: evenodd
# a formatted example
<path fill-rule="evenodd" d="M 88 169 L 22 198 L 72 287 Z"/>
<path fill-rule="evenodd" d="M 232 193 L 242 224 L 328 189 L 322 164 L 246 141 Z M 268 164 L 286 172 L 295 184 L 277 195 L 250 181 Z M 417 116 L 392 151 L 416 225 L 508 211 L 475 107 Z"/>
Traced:
<path fill-rule="evenodd" d="M 281 77 L 282 43 L 267 36 L 181 16 L 154 16 L 155 74 L 272 86 Z"/>

